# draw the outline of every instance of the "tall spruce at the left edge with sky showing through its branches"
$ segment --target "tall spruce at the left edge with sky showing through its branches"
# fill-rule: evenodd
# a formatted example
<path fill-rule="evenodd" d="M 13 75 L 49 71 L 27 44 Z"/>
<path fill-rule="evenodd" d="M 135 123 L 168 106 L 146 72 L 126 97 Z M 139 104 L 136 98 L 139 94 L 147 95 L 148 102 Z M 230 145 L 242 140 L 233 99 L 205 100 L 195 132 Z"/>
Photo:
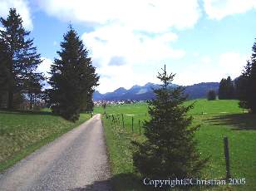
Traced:
<path fill-rule="evenodd" d="M 22 26 L 22 18 L 15 8 L 10 9 L 7 19 L 1 17 L 0 22 L 4 29 L 0 30 L 0 43 L 6 56 L 0 63 L 4 69 L 4 72 L 1 72 L 0 84 L 7 82 L 7 107 L 12 109 L 13 96 L 26 94 L 25 81 L 29 81 L 30 76 L 35 74 L 38 64 L 42 61 L 40 54 L 37 54 L 37 48 L 33 47 L 33 40 L 28 38 L 30 32 Z M 37 73 L 38 75 L 41 74 Z"/>

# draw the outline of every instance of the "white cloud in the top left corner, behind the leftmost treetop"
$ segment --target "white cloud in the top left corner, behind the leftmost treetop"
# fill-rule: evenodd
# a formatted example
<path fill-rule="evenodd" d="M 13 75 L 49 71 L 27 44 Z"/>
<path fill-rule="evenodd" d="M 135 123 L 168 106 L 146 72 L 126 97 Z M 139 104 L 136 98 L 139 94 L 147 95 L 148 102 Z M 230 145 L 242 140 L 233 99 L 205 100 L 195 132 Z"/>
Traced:
<path fill-rule="evenodd" d="M 17 13 L 21 15 L 23 26 L 29 30 L 32 30 L 32 18 L 27 0 L 1 0 L 0 16 L 7 17 L 9 9 L 12 7 L 16 8 Z"/>

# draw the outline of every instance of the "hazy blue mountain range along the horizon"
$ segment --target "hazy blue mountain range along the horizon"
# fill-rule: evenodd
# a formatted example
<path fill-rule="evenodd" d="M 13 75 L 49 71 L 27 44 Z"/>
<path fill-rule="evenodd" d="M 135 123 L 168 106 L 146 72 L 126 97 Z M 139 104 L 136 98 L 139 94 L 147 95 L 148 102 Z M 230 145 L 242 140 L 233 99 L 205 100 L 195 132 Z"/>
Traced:
<path fill-rule="evenodd" d="M 179 85 L 171 84 L 170 87 L 177 87 Z M 147 83 L 145 86 L 132 86 L 129 90 L 124 87 L 116 89 L 116 91 L 101 94 L 99 91 L 95 91 L 93 94 L 93 100 L 150 100 L 154 98 L 154 89 L 158 89 L 160 85 L 154 83 Z M 218 92 L 219 82 L 203 82 L 194 84 L 192 86 L 184 86 L 185 94 L 188 95 L 188 99 L 205 98 L 209 90 Z"/>

